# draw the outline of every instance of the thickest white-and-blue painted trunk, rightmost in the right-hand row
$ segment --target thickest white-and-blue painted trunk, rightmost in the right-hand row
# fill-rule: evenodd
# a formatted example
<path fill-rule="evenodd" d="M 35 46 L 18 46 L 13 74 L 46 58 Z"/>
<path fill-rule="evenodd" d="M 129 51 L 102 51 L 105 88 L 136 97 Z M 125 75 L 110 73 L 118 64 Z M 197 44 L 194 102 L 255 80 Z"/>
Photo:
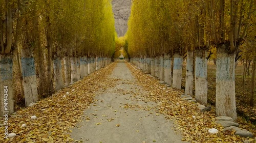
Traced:
<path fill-rule="evenodd" d="M 225 52 L 225 46 L 217 48 L 216 114 L 237 120 L 234 84 L 235 54 Z"/>

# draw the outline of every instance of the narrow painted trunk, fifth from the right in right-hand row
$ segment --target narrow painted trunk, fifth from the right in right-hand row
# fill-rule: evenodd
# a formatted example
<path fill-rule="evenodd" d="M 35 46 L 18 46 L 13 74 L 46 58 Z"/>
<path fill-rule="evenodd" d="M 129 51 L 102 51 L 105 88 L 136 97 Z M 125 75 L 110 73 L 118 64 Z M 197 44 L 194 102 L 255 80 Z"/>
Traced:
<path fill-rule="evenodd" d="M 169 54 L 164 54 L 164 81 L 172 85 L 172 61 Z"/>

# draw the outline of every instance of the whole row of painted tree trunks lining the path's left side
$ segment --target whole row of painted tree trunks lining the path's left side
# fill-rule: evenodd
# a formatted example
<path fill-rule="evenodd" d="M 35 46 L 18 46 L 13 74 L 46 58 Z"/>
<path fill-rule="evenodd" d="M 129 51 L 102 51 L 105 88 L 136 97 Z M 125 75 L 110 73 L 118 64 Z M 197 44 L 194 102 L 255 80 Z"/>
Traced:
<path fill-rule="evenodd" d="M 35 66 L 35 59 L 30 49 L 24 48 L 21 52 L 21 67 L 22 67 L 22 76 L 23 76 L 23 89 L 24 89 L 24 95 L 25 95 L 25 105 L 28 106 L 32 102 L 36 102 L 39 100 L 39 95 L 37 91 L 37 78 L 36 78 L 36 67 L 39 70 L 39 80 L 41 80 L 42 77 L 47 78 L 47 80 L 52 82 L 52 74 L 49 74 L 48 76 L 45 76 L 45 74 L 41 73 L 41 70 L 44 70 L 44 65 L 42 64 L 42 61 L 39 61 L 39 65 Z M 65 56 L 62 60 L 64 63 L 64 72 L 65 72 L 65 84 L 66 86 L 70 83 L 74 83 L 80 78 L 87 76 L 89 74 L 89 65 L 88 65 L 88 59 L 91 59 L 93 62 L 91 63 L 91 73 L 96 70 L 96 60 L 95 58 L 87 58 L 87 56 L 83 56 L 82 58 L 74 58 Z M 100 65 L 100 68 L 103 67 L 103 65 L 110 64 L 109 58 L 101 58 L 102 64 Z M 44 60 L 43 60 L 44 61 Z M 55 58 L 53 63 L 48 61 L 48 67 L 45 70 L 51 69 L 53 65 L 53 73 L 54 73 L 54 81 L 55 81 L 55 90 L 62 89 L 64 86 L 64 82 L 62 79 L 62 68 L 61 68 L 61 59 Z M 12 82 L 12 69 L 13 69 L 13 55 L 12 54 L 1 54 L 0 55 L 0 83 L 1 83 L 1 95 L 3 95 L 3 98 L 0 100 L 1 108 L 0 113 L 1 115 L 4 115 L 6 111 L 8 113 L 13 113 L 14 111 L 14 99 L 13 99 L 13 82 Z M 44 75 L 44 76 L 42 76 Z M 44 80 L 43 82 L 39 83 L 45 83 L 47 80 Z M 52 83 L 53 84 L 53 83 Z M 40 87 L 39 87 L 40 89 Z M 46 94 L 49 94 L 49 91 Z M 42 94 L 42 93 L 40 93 Z M 8 99 L 8 108 L 5 108 L 5 103 L 7 105 L 7 100 L 5 101 L 5 98 Z M 7 106 L 6 106 L 7 107 Z"/>

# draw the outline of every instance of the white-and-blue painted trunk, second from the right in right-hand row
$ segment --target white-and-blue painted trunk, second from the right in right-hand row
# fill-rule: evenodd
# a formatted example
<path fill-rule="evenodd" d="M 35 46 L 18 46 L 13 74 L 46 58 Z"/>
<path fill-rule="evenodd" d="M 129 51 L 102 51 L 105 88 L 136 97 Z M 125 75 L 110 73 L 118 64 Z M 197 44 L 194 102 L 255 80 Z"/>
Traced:
<path fill-rule="evenodd" d="M 196 52 L 195 88 L 196 100 L 200 104 L 207 104 L 207 51 L 198 49 Z"/>

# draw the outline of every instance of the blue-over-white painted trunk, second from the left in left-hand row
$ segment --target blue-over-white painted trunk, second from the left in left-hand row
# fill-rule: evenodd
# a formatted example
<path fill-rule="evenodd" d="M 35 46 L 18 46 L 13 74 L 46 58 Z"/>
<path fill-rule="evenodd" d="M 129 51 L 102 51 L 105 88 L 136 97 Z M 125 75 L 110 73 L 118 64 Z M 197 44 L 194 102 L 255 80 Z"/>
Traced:
<path fill-rule="evenodd" d="M 35 61 L 30 49 L 22 49 L 22 74 L 25 95 L 25 105 L 38 101 L 35 75 Z"/>

